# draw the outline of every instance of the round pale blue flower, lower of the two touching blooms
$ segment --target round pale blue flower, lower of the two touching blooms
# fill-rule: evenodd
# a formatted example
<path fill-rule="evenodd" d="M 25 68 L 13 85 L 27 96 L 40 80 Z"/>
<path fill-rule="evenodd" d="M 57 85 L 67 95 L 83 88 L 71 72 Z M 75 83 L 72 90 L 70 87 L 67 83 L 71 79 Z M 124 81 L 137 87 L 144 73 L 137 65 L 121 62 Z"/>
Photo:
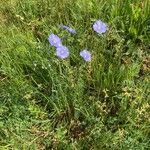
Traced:
<path fill-rule="evenodd" d="M 67 58 L 69 56 L 69 50 L 66 46 L 60 46 L 56 48 L 56 55 L 61 58 Z"/>

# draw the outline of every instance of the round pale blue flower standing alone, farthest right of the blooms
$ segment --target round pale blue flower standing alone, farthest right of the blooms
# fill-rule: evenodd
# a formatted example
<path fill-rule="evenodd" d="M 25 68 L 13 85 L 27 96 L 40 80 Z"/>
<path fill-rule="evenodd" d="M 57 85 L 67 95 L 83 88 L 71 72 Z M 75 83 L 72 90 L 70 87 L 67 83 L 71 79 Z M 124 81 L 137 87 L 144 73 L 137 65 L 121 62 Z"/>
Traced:
<path fill-rule="evenodd" d="M 97 20 L 94 24 L 93 24 L 93 30 L 96 31 L 97 33 L 105 33 L 108 30 L 107 25 L 102 22 L 101 20 Z"/>

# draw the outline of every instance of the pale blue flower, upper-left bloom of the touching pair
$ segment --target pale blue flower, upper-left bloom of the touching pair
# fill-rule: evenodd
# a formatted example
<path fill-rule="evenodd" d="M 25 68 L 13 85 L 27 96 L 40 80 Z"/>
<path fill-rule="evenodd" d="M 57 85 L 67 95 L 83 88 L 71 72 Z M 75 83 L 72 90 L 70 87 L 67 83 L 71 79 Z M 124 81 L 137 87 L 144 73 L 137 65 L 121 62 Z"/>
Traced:
<path fill-rule="evenodd" d="M 48 41 L 51 44 L 51 46 L 59 47 L 62 45 L 61 39 L 55 34 L 51 34 L 48 38 Z"/>

